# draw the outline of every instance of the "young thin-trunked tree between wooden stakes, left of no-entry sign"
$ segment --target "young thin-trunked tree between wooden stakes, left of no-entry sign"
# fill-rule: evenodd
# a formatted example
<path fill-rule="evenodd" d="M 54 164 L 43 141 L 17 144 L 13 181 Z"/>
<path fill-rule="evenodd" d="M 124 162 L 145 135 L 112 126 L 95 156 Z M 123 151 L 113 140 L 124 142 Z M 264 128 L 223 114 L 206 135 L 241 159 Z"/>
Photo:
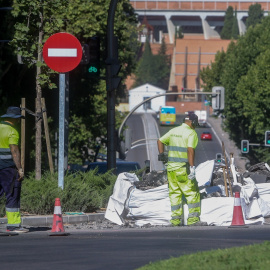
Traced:
<path fill-rule="evenodd" d="M 65 4 L 65 0 L 13 1 L 12 14 L 18 20 L 15 24 L 15 33 L 11 44 L 15 48 L 15 52 L 24 57 L 24 62 L 28 67 L 34 65 L 36 67 L 36 179 L 41 179 L 42 85 L 48 85 L 49 88 L 54 87 L 53 84 L 50 84 L 50 71 L 42 63 L 43 39 L 44 34 L 51 35 L 63 26 L 63 21 L 57 20 L 57 12 L 61 12 L 61 9 L 65 8 Z"/>

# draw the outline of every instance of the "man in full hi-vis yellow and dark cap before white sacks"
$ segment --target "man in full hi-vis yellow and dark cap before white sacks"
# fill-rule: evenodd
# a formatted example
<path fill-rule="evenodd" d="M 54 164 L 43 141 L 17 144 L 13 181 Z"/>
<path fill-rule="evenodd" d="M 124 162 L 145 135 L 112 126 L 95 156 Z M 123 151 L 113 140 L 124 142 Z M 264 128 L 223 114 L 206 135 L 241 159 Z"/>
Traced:
<path fill-rule="evenodd" d="M 187 225 L 202 225 L 200 222 L 200 193 L 195 178 L 195 148 L 198 135 L 195 127 L 198 116 L 185 116 L 183 124 L 175 127 L 158 141 L 159 160 L 164 161 L 164 145 L 168 146 L 167 175 L 169 182 L 169 197 L 171 201 L 171 223 L 174 226 L 183 225 L 183 196 L 188 205 Z"/>

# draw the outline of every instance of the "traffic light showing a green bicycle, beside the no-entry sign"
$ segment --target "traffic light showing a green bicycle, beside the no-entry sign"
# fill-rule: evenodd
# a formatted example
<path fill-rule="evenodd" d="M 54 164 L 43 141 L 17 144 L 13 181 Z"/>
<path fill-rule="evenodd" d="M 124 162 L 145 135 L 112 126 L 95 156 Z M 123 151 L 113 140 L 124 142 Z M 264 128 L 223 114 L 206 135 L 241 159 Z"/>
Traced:
<path fill-rule="evenodd" d="M 100 75 L 100 38 L 91 37 L 89 46 L 89 64 L 87 71 L 90 77 L 99 77 Z"/>

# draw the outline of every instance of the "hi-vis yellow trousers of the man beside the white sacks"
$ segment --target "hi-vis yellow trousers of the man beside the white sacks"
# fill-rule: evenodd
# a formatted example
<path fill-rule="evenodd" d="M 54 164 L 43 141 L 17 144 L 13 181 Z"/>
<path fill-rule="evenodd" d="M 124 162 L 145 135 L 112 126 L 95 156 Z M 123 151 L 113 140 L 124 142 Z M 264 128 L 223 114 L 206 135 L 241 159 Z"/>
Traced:
<path fill-rule="evenodd" d="M 184 195 L 189 209 L 187 224 L 193 224 L 200 220 L 200 193 L 196 180 L 189 180 L 186 167 L 167 172 L 169 181 L 169 197 L 171 201 L 173 225 L 181 223 L 183 215 L 182 196 Z"/>

